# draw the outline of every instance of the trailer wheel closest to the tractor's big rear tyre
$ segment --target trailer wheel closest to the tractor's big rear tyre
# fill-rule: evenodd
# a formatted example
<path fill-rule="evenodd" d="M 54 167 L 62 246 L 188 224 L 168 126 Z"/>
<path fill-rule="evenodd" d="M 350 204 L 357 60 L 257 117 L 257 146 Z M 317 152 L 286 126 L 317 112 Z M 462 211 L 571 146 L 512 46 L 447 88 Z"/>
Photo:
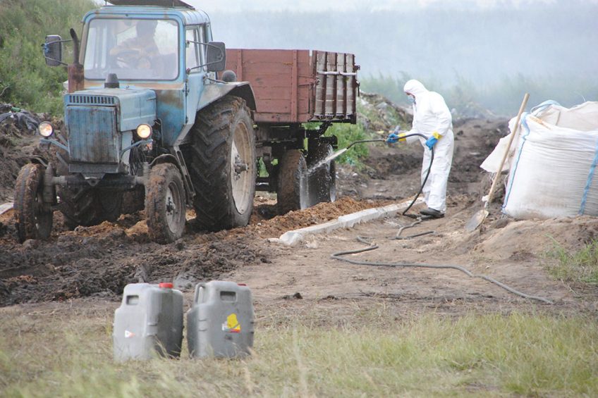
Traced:
<path fill-rule="evenodd" d="M 310 206 L 307 163 L 298 149 L 286 151 L 279 159 L 278 198 L 279 213 L 307 209 Z"/>

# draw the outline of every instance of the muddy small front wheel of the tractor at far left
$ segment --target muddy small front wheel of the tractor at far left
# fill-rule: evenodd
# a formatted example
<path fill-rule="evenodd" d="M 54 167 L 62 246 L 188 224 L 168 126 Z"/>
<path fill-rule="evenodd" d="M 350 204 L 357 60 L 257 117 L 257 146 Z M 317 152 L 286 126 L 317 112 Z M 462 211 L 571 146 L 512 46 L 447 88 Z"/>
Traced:
<path fill-rule="evenodd" d="M 27 164 L 20 169 L 15 189 L 17 232 L 20 242 L 47 239 L 52 230 L 52 211 L 44 206 L 44 167 Z"/>

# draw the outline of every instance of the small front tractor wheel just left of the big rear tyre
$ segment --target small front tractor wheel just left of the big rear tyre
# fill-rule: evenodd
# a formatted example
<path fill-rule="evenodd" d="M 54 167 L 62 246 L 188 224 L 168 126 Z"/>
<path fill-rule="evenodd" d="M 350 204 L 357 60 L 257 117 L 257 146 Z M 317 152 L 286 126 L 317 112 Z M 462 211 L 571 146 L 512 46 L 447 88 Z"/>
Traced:
<path fill-rule="evenodd" d="M 161 163 L 150 171 L 145 187 L 147 230 L 152 240 L 171 243 L 183 236 L 185 230 L 185 187 L 178 168 Z"/>

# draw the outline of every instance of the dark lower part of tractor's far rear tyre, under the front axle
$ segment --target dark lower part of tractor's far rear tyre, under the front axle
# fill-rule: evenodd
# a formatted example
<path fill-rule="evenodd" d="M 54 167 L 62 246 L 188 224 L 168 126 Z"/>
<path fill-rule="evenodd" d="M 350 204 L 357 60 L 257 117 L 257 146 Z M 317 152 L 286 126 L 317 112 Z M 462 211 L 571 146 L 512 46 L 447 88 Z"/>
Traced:
<path fill-rule="evenodd" d="M 71 230 L 79 225 L 90 227 L 102 221 L 116 221 L 121 216 L 123 192 L 91 187 L 60 187 L 58 196 L 64 222 Z"/>

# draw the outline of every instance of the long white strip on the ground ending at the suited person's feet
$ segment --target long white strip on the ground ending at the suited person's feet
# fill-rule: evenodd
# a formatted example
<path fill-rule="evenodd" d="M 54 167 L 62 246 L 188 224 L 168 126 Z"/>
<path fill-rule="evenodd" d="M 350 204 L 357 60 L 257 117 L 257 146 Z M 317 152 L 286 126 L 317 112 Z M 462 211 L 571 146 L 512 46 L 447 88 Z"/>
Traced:
<path fill-rule="evenodd" d="M 423 199 L 419 198 L 415 204 L 422 203 Z M 411 200 L 403 201 L 399 204 L 390 204 L 384 207 L 374 207 L 373 209 L 366 209 L 358 211 L 357 213 L 350 213 L 346 216 L 340 216 L 336 220 L 331 220 L 327 223 L 312 225 L 310 227 L 301 228 L 299 230 L 287 231 L 279 238 L 270 239 L 270 242 L 277 242 L 286 244 L 287 246 L 294 246 L 299 242 L 305 240 L 310 235 L 329 233 L 338 228 L 353 228 L 353 225 L 359 223 L 367 223 L 367 221 L 376 220 L 382 217 L 395 216 L 399 211 L 407 209 Z"/>

